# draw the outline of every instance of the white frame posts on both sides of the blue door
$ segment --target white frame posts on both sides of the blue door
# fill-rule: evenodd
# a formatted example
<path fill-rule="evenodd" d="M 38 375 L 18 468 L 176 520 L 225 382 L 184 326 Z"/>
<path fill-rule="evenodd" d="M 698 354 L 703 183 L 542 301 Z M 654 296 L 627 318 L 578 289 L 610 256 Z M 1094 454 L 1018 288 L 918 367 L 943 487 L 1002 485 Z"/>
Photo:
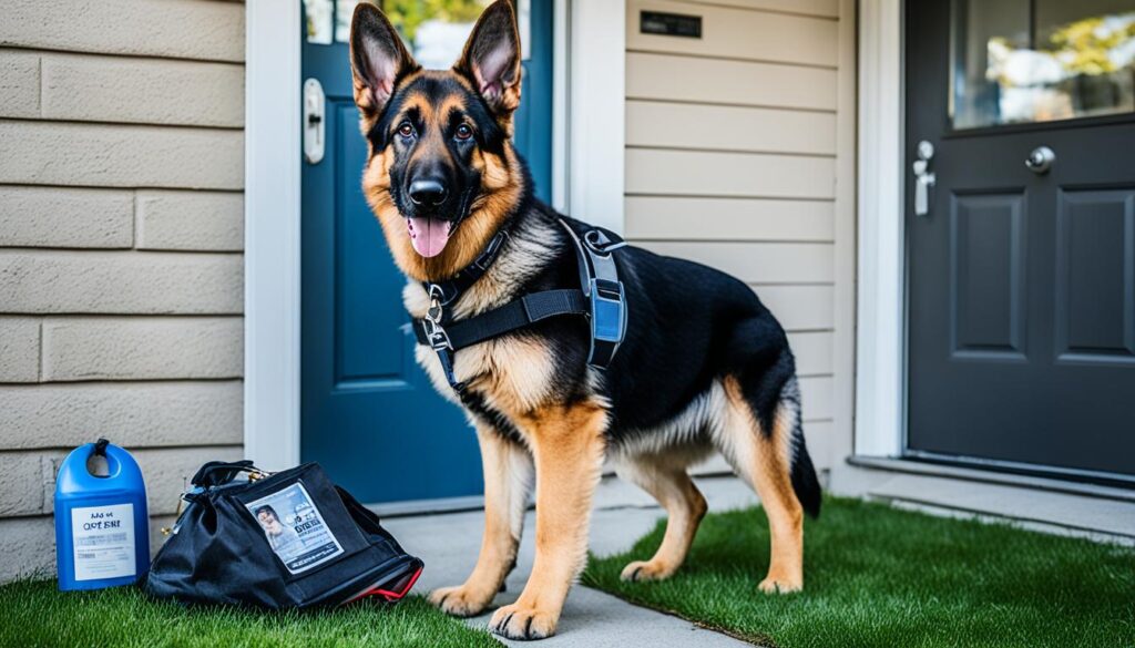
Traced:
<path fill-rule="evenodd" d="M 554 10 L 553 205 L 622 232 L 625 0 Z M 300 462 L 301 14 L 245 8 L 244 453 L 267 470 Z"/>

